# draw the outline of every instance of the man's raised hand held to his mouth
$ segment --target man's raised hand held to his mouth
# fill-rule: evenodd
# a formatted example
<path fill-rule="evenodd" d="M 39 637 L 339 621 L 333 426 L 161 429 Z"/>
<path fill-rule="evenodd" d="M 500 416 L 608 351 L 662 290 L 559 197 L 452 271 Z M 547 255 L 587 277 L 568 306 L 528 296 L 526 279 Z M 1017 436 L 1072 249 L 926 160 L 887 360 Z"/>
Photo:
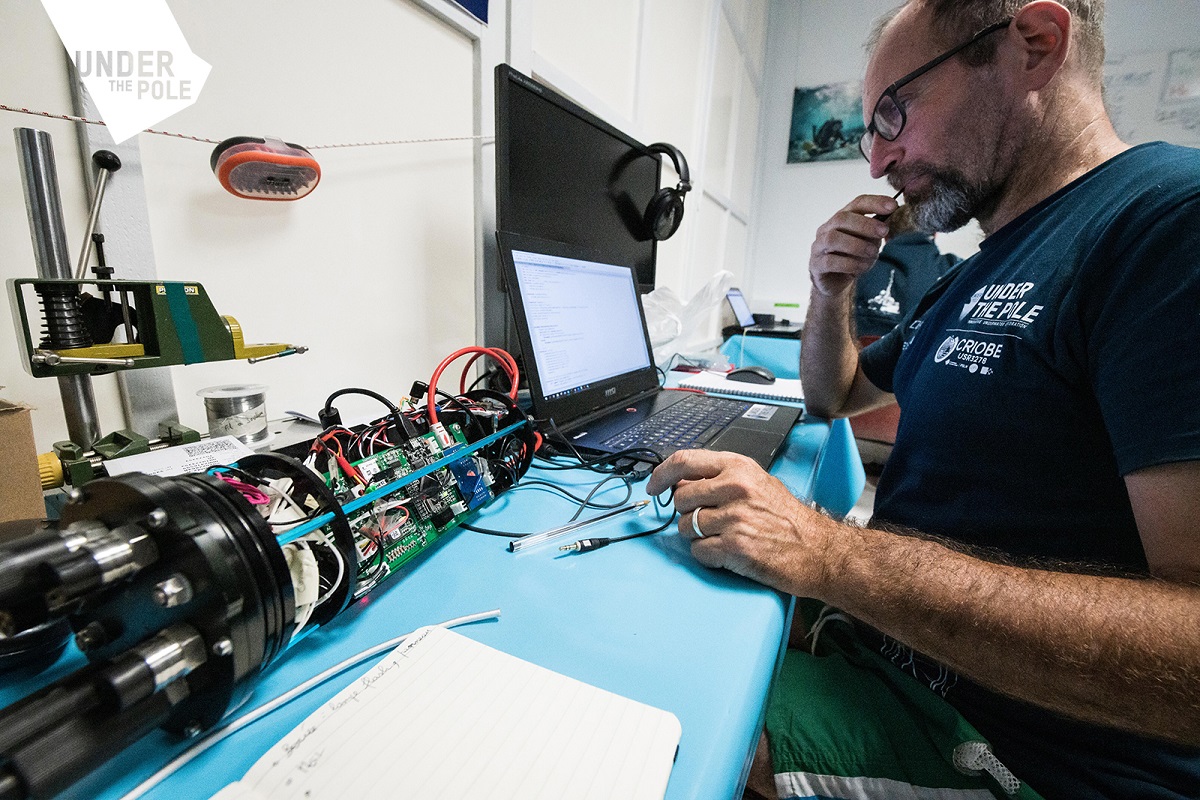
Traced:
<path fill-rule="evenodd" d="M 827 297 L 842 295 L 858 276 L 871 269 L 880 257 L 888 224 L 866 215 L 887 216 L 898 207 L 890 197 L 860 194 L 817 228 L 809 259 L 809 276 L 817 293 Z"/>

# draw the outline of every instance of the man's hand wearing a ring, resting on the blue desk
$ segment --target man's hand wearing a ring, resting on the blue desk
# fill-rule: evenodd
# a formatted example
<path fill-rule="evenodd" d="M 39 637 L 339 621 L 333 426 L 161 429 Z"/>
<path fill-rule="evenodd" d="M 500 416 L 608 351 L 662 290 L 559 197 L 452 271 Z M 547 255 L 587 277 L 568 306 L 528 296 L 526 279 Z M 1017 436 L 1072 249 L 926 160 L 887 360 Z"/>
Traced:
<path fill-rule="evenodd" d="M 679 450 L 650 475 L 648 494 L 674 487 L 679 535 L 697 561 L 802 596 L 818 596 L 834 523 L 797 500 L 750 458 Z M 698 523 L 703 536 L 697 537 Z"/>

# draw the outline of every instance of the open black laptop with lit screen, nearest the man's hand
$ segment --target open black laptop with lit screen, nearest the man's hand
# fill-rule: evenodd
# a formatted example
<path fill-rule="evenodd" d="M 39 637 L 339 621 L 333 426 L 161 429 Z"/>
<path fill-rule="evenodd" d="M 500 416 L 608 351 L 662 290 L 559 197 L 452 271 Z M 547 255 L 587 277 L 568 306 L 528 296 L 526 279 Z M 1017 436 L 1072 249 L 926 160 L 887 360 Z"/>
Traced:
<path fill-rule="evenodd" d="M 551 435 L 611 453 L 665 420 L 682 431 L 683 446 L 739 452 L 770 467 L 800 409 L 661 389 L 629 265 L 530 236 L 499 231 L 497 241 L 533 413 L 553 420 Z M 680 449 L 655 440 L 640 446 L 661 456 Z"/>

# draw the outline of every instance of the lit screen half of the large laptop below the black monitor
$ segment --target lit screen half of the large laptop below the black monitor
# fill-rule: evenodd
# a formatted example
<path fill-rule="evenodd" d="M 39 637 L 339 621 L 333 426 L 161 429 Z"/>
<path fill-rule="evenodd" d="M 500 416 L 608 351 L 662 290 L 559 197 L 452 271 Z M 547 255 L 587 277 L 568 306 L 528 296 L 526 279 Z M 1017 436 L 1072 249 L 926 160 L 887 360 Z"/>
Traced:
<path fill-rule="evenodd" d="M 634 270 L 500 233 L 534 411 L 564 425 L 658 386 Z"/>

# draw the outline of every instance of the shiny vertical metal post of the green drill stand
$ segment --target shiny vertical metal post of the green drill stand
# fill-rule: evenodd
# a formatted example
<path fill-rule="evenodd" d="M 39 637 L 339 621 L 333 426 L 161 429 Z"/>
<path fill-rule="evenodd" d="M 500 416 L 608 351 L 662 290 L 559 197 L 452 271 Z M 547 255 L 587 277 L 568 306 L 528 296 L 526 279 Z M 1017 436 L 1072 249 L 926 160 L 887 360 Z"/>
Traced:
<path fill-rule="evenodd" d="M 70 279 L 71 259 L 67 255 L 62 201 L 59 198 L 59 179 L 54 167 L 54 144 L 46 131 L 16 128 L 14 132 L 37 276 Z M 59 395 L 62 397 L 62 411 L 71 441 L 85 449 L 91 447 L 100 438 L 100 420 L 96 416 L 96 396 L 91 389 L 91 377 L 60 377 Z"/>

